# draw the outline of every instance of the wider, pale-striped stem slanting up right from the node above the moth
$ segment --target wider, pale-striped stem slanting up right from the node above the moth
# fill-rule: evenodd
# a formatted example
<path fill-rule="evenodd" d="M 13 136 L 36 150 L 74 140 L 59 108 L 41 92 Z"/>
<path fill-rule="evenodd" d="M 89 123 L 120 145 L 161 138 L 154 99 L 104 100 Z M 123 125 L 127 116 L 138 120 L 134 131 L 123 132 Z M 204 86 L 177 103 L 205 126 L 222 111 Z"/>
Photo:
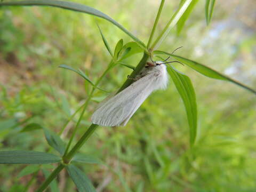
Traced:
<path fill-rule="evenodd" d="M 187 10 L 191 1 L 192 0 L 185 0 L 184 3 L 179 7 L 179 9 L 174 13 L 170 21 L 162 30 L 161 34 L 157 37 L 153 45 L 150 47 L 151 50 L 156 50 L 158 46 L 164 41 L 166 36 L 169 34 L 170 30 L 176 25 L 176 23 L 182 17 L 183 13 Z"/>

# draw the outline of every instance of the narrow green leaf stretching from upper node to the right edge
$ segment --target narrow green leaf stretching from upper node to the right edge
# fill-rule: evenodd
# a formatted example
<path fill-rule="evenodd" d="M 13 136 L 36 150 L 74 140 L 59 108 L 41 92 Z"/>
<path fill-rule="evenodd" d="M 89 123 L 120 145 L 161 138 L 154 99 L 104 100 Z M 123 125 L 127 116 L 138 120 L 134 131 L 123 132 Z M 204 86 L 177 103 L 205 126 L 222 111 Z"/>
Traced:
<path fill-rule="evenodd" d="M 206 67 L 205 65 L 198 63 L 196 61 L 192 61 L 183 57 L 180 57 L 178 55 L 174 55 L 171 53 L 167 53 L 164 51 L 154 51 L 155 54 L 164 54 L 164 55 L 169 55 L 171 57 L 173 57 L 174 59 L 182 62 L 183 64 L 193 68 L 194 70 L 196 70 L 197 72 L 207 76 L 207 77 L 211 77 L 211 78 L 215 78 L 215 79 L 220 79 L 220 80 L 225 80 L 225 81 L 229 81 L 231 83 L 234 83 L 238 86 L 243 87 L 244 89 L 251 91 L 252 93 L 256 94 L 256 90 L 251 89 L 249 86 L 246 86 L 234 79 L 231 79 L 230 77 L 223 75 L 221 73 L 219 73 L 218 71 L 215 71 L 214 69 L 211 69 L 210 67 Z"/>

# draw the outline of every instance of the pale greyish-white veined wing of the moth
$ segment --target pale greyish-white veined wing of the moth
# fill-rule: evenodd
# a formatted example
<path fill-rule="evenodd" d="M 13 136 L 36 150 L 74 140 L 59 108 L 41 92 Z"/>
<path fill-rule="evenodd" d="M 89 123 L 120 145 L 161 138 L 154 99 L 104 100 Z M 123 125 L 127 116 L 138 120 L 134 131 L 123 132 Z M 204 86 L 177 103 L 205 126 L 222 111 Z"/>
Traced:
<path fill-rule="evenodd" d="M 154 90 L 158 71 L 147 74 L 103 103 L 92 115 L 92 123 L 102 126 L 125 125 Z"/>

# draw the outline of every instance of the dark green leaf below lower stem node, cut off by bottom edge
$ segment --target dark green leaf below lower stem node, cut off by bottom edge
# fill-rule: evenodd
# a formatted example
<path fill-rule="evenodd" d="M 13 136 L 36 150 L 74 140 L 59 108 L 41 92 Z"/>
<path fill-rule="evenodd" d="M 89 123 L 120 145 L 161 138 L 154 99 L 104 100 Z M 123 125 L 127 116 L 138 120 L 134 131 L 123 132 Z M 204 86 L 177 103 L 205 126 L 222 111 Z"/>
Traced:
<path fill-rule="evenodd" d="M 67 170 L 79 192 L 96 192 L 90 179 L 78 167 L 69 164 Z"/>

